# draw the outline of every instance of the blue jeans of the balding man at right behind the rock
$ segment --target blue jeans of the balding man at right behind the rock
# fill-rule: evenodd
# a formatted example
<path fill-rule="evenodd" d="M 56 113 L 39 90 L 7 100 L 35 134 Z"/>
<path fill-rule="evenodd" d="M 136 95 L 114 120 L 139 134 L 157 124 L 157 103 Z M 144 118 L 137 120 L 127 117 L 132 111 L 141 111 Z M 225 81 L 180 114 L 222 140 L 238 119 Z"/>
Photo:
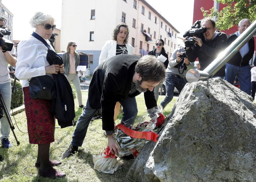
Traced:
<path fill-rule="evenodd" d="M 235 76 L 238 77 L 240 90 L 251 95 L 251 66 L 237 67 L 226 63 L 224 80 L 233 85 Z"/>

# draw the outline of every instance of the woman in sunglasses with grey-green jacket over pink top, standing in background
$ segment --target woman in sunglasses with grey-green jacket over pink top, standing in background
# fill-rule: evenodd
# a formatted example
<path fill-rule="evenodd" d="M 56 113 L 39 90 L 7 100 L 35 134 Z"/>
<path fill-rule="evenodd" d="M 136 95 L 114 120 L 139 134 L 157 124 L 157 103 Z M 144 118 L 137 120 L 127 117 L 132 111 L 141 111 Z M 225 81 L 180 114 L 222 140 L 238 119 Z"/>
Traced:
<path fill-rule="evenodd" d="M 79 65 L 79 54 L 75 52 L 76 47 L 77 45 L 75 42 L 69 41 L 67 44 L 66 53 L 62 55 L 62 59 L 65 67 L 64 75 L 69 83 L 72 82 L 74 84 L 79 107 L 83 108 L 80 81 L 78 75 L 76 74 L 76 68 Z"/>

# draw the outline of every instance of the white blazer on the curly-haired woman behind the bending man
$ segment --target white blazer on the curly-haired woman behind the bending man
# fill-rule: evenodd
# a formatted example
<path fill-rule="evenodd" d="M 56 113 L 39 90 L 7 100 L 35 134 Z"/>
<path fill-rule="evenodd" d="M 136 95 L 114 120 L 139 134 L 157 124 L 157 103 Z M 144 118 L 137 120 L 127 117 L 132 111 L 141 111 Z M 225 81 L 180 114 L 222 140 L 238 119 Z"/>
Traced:
<path fill-rule="evenodd" d="M 100 56 L 99 56 L 99 64 L 103 63 L 104 61 L 108 60 L 109 58 L 116 55 L 116 40 L 108 40 L 102 47 Z M 131 44 L 125 44 L 128 54 L 132 55 L 133 47 Z"/>

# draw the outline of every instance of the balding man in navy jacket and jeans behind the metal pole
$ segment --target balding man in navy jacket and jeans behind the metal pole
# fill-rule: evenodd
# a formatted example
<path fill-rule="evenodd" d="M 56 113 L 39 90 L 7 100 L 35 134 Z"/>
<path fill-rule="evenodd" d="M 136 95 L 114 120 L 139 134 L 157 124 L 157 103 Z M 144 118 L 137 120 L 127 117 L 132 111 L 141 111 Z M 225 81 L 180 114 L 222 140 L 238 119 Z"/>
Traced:
<path fill-rule="evenodd" d="M 249 19 L 243 19 L 238 23 L 238 31 L 232 33 L 227 38 L 227 45 L 230 45 L 240 36 L 249 26 Z M 233 84 L 235 77 L 239 79 L 240 90 L 251 95 L 251 66 L 250 60 L 254 54 L 253 37 L 226 63 L 225 80 Z"/>

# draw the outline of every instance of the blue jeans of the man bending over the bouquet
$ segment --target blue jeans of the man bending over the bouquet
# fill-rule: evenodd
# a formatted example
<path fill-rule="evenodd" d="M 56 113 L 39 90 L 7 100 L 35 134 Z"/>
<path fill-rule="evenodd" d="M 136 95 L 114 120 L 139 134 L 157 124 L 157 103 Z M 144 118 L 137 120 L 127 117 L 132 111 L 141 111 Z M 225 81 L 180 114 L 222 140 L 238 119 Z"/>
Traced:
<path fill-rule="evenodd" d="M 123 107 L 123 118 L 121 120 L 121 123 L 129 126 L 130 124 L 133 124 L 135 121 L 135 117 L 137 116 L 138 110 L 137 110 L 137 103 L 135 97 L 127 97 L 122 101 L 119 101 L 120 104 Z M 72 135 L 72 141 L 71 145 L 81 147 L 83 144 L 83 140 L 85 138 L 89 123 L 96 113 L 97 109 L 92 109 L 89 105 L 89 101 L 87 99 L 86 107 L 83 110 L 83 113 L 80 115 L 76 126 L 74 133 Z"/>

